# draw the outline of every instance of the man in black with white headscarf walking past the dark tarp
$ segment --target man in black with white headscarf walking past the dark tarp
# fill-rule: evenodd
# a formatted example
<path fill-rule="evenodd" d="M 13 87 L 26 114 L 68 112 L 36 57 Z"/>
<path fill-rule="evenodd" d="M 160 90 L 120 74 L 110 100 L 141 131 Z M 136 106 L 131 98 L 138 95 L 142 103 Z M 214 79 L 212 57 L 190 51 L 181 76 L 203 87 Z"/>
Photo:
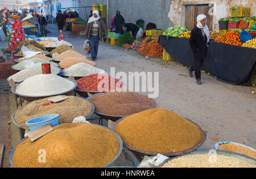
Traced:
<path fill-rule="evenodd" d="M 197 25 L 191 31 L 190 46 L 194 54 L 194 65 L 189 67 L 189 76 L 193 77 L 193 71 L 195 70 L 196 83 L 201 82 L 201 66 L 204 59 L 207 57 L 208 43 L 210 40 L 209 28 L 207 26 L 207 16 L 200 14 L 196 18 Z"/>

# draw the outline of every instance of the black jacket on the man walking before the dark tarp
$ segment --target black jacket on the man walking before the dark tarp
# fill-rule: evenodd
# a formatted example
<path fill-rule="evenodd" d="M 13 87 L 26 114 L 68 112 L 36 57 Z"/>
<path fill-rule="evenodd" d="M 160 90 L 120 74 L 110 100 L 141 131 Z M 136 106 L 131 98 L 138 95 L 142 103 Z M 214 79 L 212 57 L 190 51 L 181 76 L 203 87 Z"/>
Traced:
<path fill-rule="evenodd" d="M 207 36 L 204 39 L 203 33 L 198 27 L 193 28 L 191 31 L 190 46 L 195 59 L 205 59 L 207 57 Z"/>

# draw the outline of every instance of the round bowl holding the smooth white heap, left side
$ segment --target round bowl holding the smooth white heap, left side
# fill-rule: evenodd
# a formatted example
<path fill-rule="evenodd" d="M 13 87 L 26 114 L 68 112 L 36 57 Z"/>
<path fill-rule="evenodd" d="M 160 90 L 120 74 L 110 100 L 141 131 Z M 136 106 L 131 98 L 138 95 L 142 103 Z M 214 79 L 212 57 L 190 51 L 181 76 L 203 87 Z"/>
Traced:
<path fill-rule="evenodd" d="M 47 95 L 47 96 L 26 96 L 26 95 L 20 95 L 19 93 L 16 93 L 13 89 L 11 89 L 11 92 L 13 92 L 15 95 L 17 95 L 21 99 L 26 100 L 28 102 L 44 99 L 46 97 L 51 97 L 51 96 L 68 95 L 69 92 L 75 90 L 75 88 L 77 87 L 77 83 L 76 83 L 76 81 L 73 81 L 72 79 L 67 79 L 67 80 L 70 80 L 71 82 L 73 82 L 75 84 L 75 86 L 71 90 L 68 90 L 68 91 L 62 92 L 62 93 L 53 94 L 53 95 Z M 17 86 L 19 84 L 20 83 L 18 83 Z"/>

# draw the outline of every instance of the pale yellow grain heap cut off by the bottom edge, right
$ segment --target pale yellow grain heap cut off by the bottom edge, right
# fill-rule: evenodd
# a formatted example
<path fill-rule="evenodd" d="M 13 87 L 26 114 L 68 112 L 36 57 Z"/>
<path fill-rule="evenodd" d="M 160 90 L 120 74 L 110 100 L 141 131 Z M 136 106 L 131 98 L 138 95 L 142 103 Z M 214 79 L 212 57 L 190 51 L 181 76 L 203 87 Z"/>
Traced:
<path fill-rule="evenodd" d="M 216 161 L 214 161 L 216 159 Z M 214 154 L 193 154 L 168 161 L 162 168 L 255 168 L 256 164 L 236 157 Z"/>

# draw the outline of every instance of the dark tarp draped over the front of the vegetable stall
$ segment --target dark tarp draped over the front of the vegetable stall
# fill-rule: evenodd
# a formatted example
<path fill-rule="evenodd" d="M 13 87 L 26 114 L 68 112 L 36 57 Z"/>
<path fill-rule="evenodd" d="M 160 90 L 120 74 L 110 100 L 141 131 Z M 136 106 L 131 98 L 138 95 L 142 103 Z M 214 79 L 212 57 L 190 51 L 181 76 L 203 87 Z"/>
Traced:
<path fill-rule="evenodd" d="M 184 66 L 192 66 L 189 39 L 161 35 L 159 44 Z M 210 41 L 203 69 L 222 82 L 249 86 L 256 66 L 256 49 Z"/>

